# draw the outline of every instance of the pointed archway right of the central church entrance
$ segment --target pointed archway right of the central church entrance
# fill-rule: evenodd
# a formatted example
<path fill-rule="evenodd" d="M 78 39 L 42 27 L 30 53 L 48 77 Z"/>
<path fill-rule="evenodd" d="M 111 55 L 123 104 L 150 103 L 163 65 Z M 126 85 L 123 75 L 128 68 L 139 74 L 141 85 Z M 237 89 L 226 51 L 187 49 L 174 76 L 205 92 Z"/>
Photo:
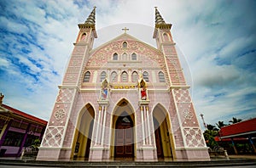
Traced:
<path fill-rule="evenodd" d="M 173 137 L 169 116 L 158 104 L 153 110 L 154 137 L 158 160 L 173 160 Z"/>

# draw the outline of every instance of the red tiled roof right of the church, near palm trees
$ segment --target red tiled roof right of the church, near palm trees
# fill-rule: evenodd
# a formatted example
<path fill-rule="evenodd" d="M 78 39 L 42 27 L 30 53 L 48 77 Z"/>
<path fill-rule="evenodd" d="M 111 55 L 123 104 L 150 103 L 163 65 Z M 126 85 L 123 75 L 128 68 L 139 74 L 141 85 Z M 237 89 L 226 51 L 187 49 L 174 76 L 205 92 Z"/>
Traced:
<path fill-rule="evenodd" d="M 219 134 L 221 137 L 232 137 L 247 132 L 256 132 L 256 118 L 244 120 L 230 126 L 223 126 L 221 127 Z"/>

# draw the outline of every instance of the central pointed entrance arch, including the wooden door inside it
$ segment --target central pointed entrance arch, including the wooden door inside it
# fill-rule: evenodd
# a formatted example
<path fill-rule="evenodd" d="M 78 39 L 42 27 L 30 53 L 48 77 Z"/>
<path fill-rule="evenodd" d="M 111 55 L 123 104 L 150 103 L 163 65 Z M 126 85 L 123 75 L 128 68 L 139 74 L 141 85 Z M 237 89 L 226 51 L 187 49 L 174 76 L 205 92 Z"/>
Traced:
<path fill-rule="evenodd" d="M 113 110 L 110 155 L 113 160 L 134 160 L 136 157 L 135 115 L 124 98 Z"/>

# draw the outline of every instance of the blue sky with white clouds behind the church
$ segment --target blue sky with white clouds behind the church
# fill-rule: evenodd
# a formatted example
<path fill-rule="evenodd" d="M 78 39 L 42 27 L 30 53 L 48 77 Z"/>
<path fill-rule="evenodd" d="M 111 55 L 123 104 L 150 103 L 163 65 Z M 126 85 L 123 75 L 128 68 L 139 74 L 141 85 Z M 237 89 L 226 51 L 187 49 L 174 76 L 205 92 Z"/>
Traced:
<path fill-rule="evenodd" d="M 3 104 L 49 120 L 58 85 L 84 23 L 96 6 L 95 48 L 127 26 L 155 47 L 154 7 L 182 61 L 198 120 L 256 117 L 256 1 L 1 0 L 0 92 Z M 201 125 L 202 126 L 202 125 Z"/>

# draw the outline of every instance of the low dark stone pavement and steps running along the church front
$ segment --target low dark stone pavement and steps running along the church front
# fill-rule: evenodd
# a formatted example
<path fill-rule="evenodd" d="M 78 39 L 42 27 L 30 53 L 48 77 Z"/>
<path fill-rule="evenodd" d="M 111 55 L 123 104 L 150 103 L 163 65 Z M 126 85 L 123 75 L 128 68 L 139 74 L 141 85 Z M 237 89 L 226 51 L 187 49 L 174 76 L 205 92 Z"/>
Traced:
<path fill-rule="evenodd" d="M 230 155 L 230 160 L 215 158 L 211 161 L 38 161 L 29 158 L 0 158 L 0 167 L 256 167 L 256 155 Z"/>

